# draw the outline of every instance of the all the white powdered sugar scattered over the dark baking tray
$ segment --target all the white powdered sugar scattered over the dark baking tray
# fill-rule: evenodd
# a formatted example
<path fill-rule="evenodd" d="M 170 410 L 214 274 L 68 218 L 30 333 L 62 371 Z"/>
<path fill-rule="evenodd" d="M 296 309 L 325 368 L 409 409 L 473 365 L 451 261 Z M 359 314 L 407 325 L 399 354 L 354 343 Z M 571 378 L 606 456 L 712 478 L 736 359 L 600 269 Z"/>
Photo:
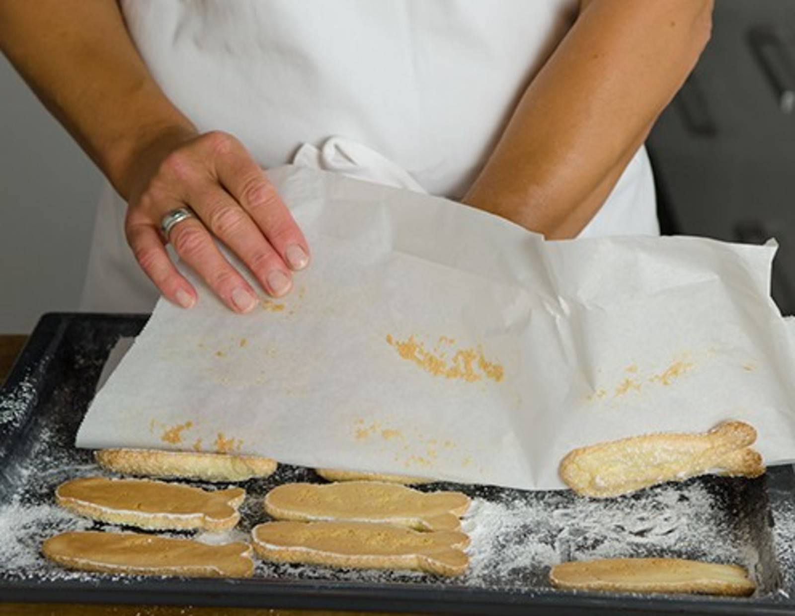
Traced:
<path fill-rule="evenodd" d="M 0 427 L 18 424 L 33 405 L 37 406 L 40 417 L 35 430 L 28 433 L 29 443 L 19 444 L 22 452 L 6 458 L 0 469 L 5 488 L 0 505 L 0 579 L 45 582 L 138 579 L 136 576 L 68 571 L 48 563 L 41 556 L 41 543 L 58 532 L 131 530 L 77 517 L 60 509 L 53 501 L 54 490 L 62 481 L 88 475 L 111 476 L 95 465 L 90 452 L 76 450 L 72 445 L 80 414 L 70 415 L 64 409 L 84 404 L 78 403 L 83 400 L 83 394 L 78 391 L 82 386 L 65 384 L 56 389 L 52 401 L 42 407 L 43 403 L 37 401 L 36 388 L 29 381 L 23 381 L 10 396 L 0 400 Z M 273 486 L 288 481 L 320 479 L 312 470 L 280 466 L 265 481 L 242 484 L 248 496 L 241 507 L 242 520 L 238 528 L 193 536 L 207 544 L 248 540 L 250 529 L 268 520 L 262 497 Z M 404 583 L 533 592 L 549 587 L 549 567 L 570 559 L 673 556 L 738 563 L 750 571 L 758 571 L 760 548 L 749 530 L 754 520 L 740 520 L 735 503 L 731 501 L 735 488 L 745 484 L 732 484 L 731 481 L 696 479 L 603 501 L 576 497 L 571 492 L 531 493 L 483 486 L 424 485 L 420 489 L 461 489 L 473 498 L 471 510 L 463 520 L 463 530 L 471 537 L 471 545 L 467 548 L 471 564 L 467 574 L 460 578 L 442 579 L 411 571 L 266 563 L 259 559 L 254 575 L 284 580 Z M 199 482 L 189 484 L 206 489 L 223 487 Z M 778 562 L 783 571 L 792 575 L 795 558 L 789 546 L 795 537 L 795 510 L 789 506 L 775 513 Z M 192 536 L 188 533 L 161 534 Z M 795 580 L 785 579 L 782 586 L 790 589 L 793 583 Z"/>

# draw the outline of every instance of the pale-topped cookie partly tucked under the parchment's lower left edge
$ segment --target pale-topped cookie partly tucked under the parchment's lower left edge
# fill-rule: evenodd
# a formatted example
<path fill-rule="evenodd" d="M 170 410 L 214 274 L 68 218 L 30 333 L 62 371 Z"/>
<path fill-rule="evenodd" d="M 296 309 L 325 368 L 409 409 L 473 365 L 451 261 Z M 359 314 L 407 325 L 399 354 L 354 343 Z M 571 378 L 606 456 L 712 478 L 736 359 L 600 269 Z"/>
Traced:
<path fill-rule="evenodd" d="M 152 449 L 103 449 L 94 455 L 107 470 L 145 477 L 246 481 L 266 478 L 276 470 L 275 460 L 249 455 Z"/>

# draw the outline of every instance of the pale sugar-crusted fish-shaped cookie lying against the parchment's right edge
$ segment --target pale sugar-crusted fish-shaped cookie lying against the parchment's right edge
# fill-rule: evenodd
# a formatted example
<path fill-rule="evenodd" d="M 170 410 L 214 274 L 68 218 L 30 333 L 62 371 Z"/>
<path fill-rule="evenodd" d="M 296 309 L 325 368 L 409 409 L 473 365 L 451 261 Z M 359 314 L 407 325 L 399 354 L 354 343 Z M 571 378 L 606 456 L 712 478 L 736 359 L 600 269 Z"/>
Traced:
<path fill-rule="evenodd" d="M 578 494 L 605 498 L 707 473 L 758 477 L 765 465 L 748 447 L 755 440 L 754 428 L 739 421 L 705 434 L 634 436 L 573 450 L 560 462 L 560 478 Z"/>

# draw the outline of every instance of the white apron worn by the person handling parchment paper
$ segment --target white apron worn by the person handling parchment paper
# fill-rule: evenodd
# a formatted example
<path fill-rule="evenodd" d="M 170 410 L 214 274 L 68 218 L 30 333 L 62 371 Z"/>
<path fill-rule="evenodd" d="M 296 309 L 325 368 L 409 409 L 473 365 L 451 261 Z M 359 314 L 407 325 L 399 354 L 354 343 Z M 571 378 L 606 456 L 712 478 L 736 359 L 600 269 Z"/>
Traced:
<path fill-rule="evenodd" d="M 236 135 L 264 167 L 295 162 L 459 199 L 576 0 L 122 0 L 169 99 Z M 107 186 L 83 310 L 148 312 L 157 290 Z M 659 233 L 641 148 L 581 236 Z"/>

